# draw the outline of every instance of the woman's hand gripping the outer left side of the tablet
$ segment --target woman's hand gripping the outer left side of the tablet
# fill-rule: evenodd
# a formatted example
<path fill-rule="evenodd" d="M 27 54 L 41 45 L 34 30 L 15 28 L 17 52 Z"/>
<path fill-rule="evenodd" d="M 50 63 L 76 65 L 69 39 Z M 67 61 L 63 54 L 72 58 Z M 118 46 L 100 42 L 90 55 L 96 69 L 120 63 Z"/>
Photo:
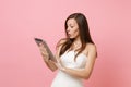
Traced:
<path fill-rule="evenodd" d="M 44 61 L 48 62 L 49 61 L 49 54 L 48 54 L 48 52 L 47 52 L 47 50 L 46 50 L 43 42 L 39 44 L 39 50 L 40 50 L 40 53 L 41 53 L 41 55 L 44 58 Z"/>

